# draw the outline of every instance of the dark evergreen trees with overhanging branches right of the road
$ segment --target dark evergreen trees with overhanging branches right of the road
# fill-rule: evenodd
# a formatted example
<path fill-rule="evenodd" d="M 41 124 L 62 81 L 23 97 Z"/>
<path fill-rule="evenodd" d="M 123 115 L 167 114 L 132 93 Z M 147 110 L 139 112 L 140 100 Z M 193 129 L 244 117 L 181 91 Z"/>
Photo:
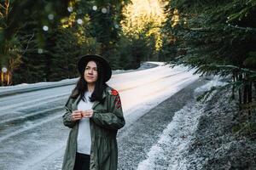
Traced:
<path fill-rule="evenodd" d="M 224 87 L 212 88 L 201 97 L 231 89 L 231 99 L 238 94 L 241 110 L 236 117 L 244 120 L 239 129 L 249 127 L 255 132 L 255 1 L 172 0 L 166 14 L 163 57 L 173 65 L 189 65 L 201 75 L 230 77 Z"/>

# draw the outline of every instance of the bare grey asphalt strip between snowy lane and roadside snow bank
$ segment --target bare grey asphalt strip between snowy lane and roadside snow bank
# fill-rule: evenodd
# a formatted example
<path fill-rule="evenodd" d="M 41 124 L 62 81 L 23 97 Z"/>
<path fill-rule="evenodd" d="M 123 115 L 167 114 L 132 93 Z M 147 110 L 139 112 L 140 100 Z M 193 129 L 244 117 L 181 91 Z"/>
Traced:
<path fill-rule="evenodd" d="M 168 123 L 172 122 L 174 113 L 195 100 L 195 88 L 206 82 L 199 79 L 189 84 L 119 132 L 119 170 L 137 169 L 138 163 L 146 159 L 151 146 L 157 142 Z M 164 166 L 161 169 L 167 168 Z"/>

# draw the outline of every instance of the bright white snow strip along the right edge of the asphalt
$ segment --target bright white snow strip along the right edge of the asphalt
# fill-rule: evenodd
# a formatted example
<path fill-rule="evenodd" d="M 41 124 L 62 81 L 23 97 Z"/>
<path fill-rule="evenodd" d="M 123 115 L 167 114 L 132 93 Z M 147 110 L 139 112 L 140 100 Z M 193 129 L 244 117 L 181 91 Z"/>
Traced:
<path fill-rule="evenodd" d="M 206 85 L 196 88 L 195 93 L 202 93 L 212 86 L 223 85 L 224 82 L 219 82 L 219 77 L 213 77 L 212 81 L 208 82 Z M 187 162 L 185 156 L 189 150 L 189 144 L 192 143 L 199 117 L 204 111 L 204 106 L 205 105 L 201 103 L 191 102 L 185 105 L 180 111 L 177 111 L 172 118 L 172 122 L 170 122 L 163 133 L 160 134 L 158 142 L 149 150 L 148 158 L 141 161 L 137 169 L 188 169 L 187 165 L 189 162 Z M 201 167 L 197 168 L 200 169 Z"/>

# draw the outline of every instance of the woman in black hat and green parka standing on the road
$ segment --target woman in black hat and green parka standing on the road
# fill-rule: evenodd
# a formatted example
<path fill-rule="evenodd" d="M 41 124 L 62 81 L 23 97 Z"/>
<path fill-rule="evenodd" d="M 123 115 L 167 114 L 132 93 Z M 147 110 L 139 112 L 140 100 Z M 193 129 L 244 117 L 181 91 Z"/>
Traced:
<path fill-rule="evenodd" d="M 125 126 L 119 93 L 108 87 L 112 71 L 99 55 L 79 59 L 79 81 L 62 116 L 70 127 L 62 170 L 115 170 L 116 134 Z"/>

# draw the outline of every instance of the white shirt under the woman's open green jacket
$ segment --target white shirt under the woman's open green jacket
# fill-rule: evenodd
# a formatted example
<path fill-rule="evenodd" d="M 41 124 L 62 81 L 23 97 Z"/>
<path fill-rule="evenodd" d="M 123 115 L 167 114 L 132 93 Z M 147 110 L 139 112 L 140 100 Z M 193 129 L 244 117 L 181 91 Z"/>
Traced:
<path fill-rule="evenodd" d="M 93 102 L 90 102 L 90 92 L 85 92 L 85 101 L 82 99 L 79 101 L 78 110 L 86 111 L 90 110 Z M 82 118 L 79 121 L 79 135 L 77 139 L 77 152 L 90 155 L 90 144 L 91 144 L 91 137 L 90 137 L 90 118 Z"/>

